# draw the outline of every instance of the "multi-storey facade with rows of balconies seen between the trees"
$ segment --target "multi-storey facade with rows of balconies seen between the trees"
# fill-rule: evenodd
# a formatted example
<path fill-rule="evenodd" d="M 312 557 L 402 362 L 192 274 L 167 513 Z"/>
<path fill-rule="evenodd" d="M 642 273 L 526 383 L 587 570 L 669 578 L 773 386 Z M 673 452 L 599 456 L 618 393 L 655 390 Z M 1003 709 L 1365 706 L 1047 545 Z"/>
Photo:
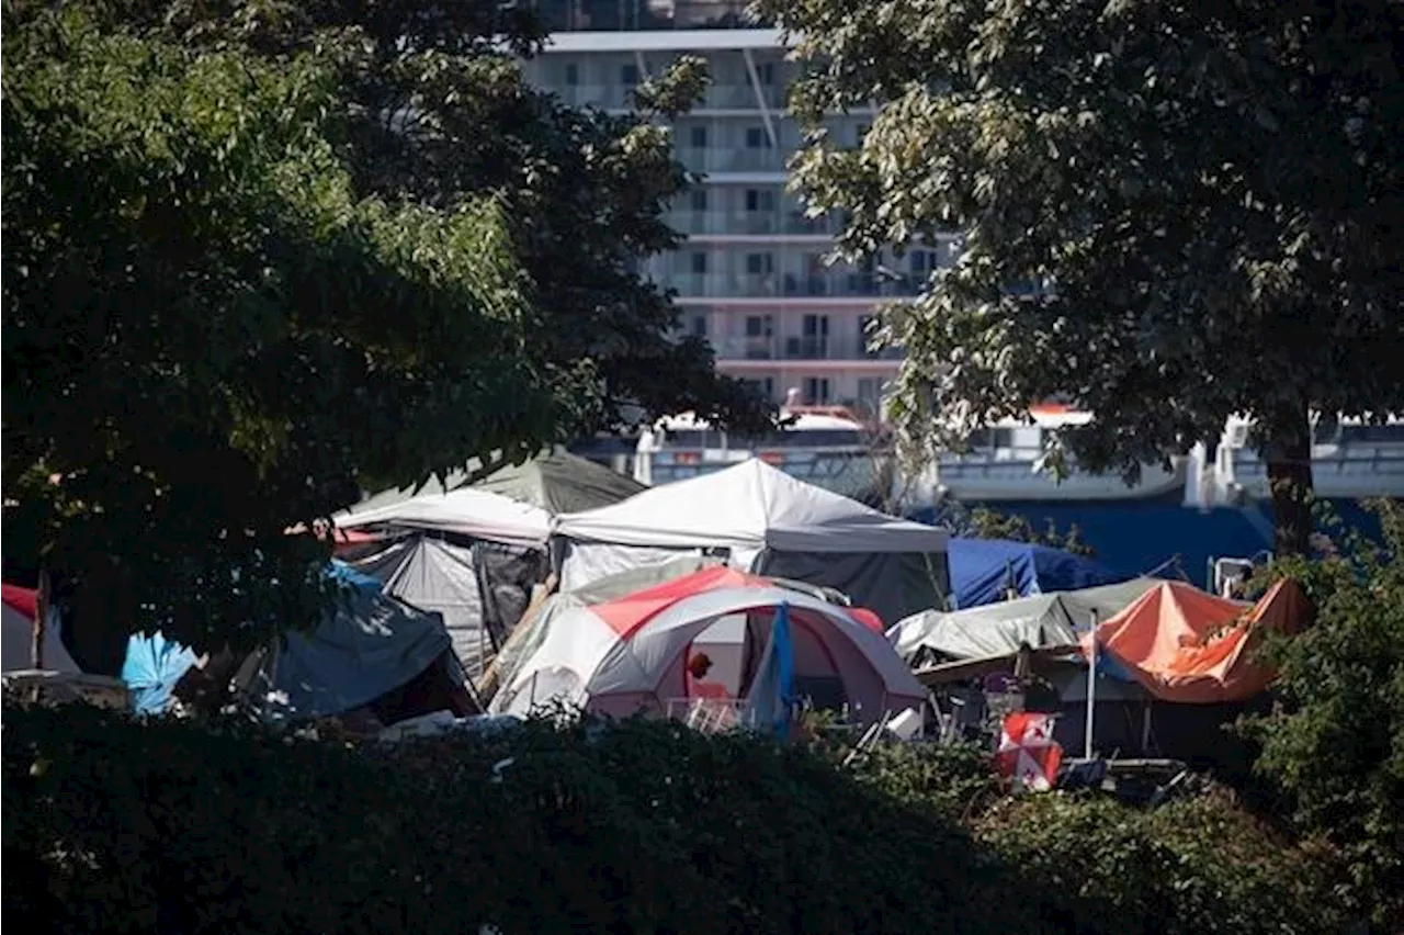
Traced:
<path fill-rule="evenodd" d="M 778 29 L 757 28 L 737 0 L 536 0 L 552 27 L 525 65 L 539 87 L 576 105 L 629 107 L 630 90 L 678 56 L 705 58 L 706 100 L 673 125 L 678 159 L 703 175 L 673 205 L 688 236 L 647 272 L 677 291 L 684 327 L 705 337 L 717 368 L 783 402 L 872 411 L 900 354 L 873 352 L 865 329 L 879 302 L 915 295 L 955 243 L 863 265 L 826 264 L 835 219 L 807 218 L 785 191 L 802 132 L 786 108 L 800 67 Z M 855 145 L 872 110 L 834 115 L 828 131 Z"/>

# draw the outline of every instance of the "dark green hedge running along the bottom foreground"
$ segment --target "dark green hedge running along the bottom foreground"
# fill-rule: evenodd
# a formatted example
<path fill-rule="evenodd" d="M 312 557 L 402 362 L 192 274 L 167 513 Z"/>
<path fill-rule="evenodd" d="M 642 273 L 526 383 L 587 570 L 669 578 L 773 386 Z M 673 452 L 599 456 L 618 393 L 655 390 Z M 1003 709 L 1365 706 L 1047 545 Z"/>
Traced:
<path fill-rule="evenodd" d="M 368 748 L 7 708 L 0 752 L 14 931 L 1341 931 L 1328 875 L 1210 820 L 1231 806 L 1000 804 L 967 751 L 844 771 L 665 723 Z"/>

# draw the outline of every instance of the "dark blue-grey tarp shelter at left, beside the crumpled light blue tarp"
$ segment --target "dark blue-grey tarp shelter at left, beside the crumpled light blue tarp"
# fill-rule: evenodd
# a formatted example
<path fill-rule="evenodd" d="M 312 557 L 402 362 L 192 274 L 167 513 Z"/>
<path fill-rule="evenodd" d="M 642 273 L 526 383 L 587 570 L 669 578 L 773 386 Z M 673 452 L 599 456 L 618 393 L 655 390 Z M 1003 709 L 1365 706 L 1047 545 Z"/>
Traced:
<path fill-rule="evenodd" d="M 288 633 L 239 675 L 267 717 L 330 717 L 399 688 L 451 649 L 439 614 L 380 591 L 380 583 L 334 562 L 348 585 L 337 611 L 313 633 Z"/>

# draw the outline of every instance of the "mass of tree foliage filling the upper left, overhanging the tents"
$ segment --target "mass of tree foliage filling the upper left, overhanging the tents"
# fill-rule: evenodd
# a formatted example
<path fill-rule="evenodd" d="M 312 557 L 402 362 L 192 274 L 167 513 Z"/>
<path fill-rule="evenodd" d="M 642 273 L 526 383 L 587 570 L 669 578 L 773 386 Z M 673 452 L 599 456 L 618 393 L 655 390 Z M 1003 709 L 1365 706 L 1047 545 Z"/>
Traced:
<path fill-rule="evenodd" d="M 362 486 L 625 403 L 764 420 L 632 272 L 673 239 L 667 138 L 529 91 L 493 37 L 531 29 L 483 4 L 0 3 L 7 556 L 114 630 L 247 642 L 316 619 L 326 545 L 285 529 Z"/>

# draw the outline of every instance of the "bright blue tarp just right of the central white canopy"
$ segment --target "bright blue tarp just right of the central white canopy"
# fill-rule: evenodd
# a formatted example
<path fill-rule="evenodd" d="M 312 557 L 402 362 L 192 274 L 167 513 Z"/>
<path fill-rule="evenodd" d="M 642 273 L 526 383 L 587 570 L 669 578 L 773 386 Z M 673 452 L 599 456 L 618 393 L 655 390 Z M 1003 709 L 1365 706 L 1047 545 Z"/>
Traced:
<path fill-rule="evenodd" d="M 946 557 L 953 609 L 962 611 L 1002 601 L 1009 588 L 1016 597 L 1029 597 L 1116 584 L 1127 577 L 1084 556 L 1005 539 L 953 538 Z"/>

